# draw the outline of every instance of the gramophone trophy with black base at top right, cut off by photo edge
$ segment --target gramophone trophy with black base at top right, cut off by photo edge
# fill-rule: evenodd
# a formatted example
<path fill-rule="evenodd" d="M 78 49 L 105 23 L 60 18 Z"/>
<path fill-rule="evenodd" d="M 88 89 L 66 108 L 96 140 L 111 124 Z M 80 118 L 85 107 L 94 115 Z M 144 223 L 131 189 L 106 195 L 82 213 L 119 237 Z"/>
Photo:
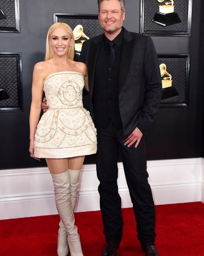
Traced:
<path fill-rule="evenodd" d="M 166 0 L 157 0 L 159 3 L 162 3 Z M 179 15 L 174 12 L 174 1 L 167 0 L 171 2 L 165 2 L 163 5 L 159 5 L 159 12 L 155 13 L 152 21 L 158 23 L 162 26 L 169 26 L 176 23 L 180 23 L 181 20 Z"/>

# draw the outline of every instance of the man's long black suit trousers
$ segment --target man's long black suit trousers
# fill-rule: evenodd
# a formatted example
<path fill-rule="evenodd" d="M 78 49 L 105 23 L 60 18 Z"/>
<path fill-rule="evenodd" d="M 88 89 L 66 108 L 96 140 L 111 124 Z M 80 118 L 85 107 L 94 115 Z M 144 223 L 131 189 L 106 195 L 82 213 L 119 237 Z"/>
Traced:
<path fill-rule="evenodd" d="M 141 245 L 155 244 L 155 205 L 148 183 L 145 138 L 139 146 L 124 146 L 122 129 L 116 131 L 111 121 L 106 129 L 97 127 L 97 177 L 100 182 L 100 210 L 106 242 L 120 243 L 122 239 L 121 197 L 118 194 L 117 160 L 121 152 L 128 184 L 138 239 Z"/>

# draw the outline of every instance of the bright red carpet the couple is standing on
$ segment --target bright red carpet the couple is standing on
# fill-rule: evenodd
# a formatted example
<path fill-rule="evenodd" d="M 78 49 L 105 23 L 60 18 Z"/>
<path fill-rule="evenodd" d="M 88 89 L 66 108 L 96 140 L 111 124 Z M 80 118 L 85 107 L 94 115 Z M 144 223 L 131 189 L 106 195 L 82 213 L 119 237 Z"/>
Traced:
<path fill-rule="evenodd" d="M 204 256 L 204 204 L 156 206 L 160 256 Z M 105 239 L 99 211 L 75 213 L 84 256 L 101 256 Z M 123 239 L 117 256 L 144 256 L 131 208 L 123 209 Z M 58 215 L 1 220 L 1 256 L 56 256 Z"/>

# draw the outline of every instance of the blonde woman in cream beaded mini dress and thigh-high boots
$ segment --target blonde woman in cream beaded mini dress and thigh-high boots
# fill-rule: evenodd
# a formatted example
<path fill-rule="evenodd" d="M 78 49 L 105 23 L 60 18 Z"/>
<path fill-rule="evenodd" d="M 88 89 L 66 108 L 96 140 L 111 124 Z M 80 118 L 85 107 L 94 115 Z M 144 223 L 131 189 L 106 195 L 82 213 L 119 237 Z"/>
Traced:
<path fill-rule="evenodd" d="M 58 256 L 67 255 L 69 249 L 71 256 L 83 255 L 74 206 L 84 156 L 97 150 L 96 129 L 82 103 L 83 87 L 88 90 L 87 67 L 73 57 L 72 29 L 66 23 L 54 23 L 47 34 L 45 61 L 35 65 L 32 81 L 29 151 L 37 160 L 46 159 L 52 175 L 61 218 Z M 39 121 L 43 90 L 49 109 Z"/>

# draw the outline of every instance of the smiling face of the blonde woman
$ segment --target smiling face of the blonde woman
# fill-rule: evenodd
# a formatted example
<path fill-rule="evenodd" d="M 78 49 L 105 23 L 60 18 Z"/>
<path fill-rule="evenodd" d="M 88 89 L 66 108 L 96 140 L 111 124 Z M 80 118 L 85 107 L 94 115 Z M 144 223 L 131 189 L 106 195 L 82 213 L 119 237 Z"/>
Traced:
<path fill-rule="evenodd" d="M 49 44 L 54 54 L 63 56 L 69 52 L 73 39 L 64 28 L 56 28 L 49 37 Z"/>

